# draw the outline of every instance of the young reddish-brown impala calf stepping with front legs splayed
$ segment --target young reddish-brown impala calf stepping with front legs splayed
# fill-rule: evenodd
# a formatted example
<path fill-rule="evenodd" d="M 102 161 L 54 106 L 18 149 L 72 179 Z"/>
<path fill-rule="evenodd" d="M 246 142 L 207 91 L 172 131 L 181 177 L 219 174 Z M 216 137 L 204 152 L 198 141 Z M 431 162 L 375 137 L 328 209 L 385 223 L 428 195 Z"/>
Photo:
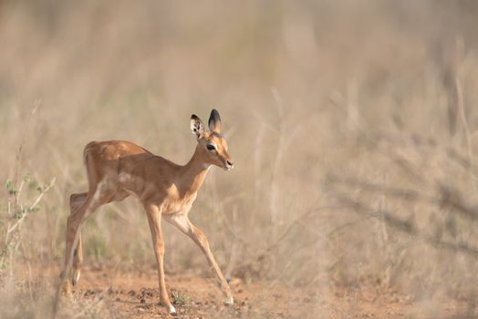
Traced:
<path fill-rule="evenodd" d="M 62 273 L 64 290 L 77 284 L 83 261 L 80 227 L 99 206 L 122 201 L 133 195 L 142 204 L 150 224 L 152 243 L 160 285 L 160 302 L 175 314 L 164 282 L 164 239 L 161 217 L 191 237 L 213 268 L 225 295 L 225 304 L 233 304 L 233 294 L 221 269 L 214 260 L 206 236 L 188 218 L 197 191 L 212 165 L 232 170 L 234 163 L 227 153 L 221 133 L 221 118 L 213 109 L 205 130 L 200 118 L 192 115 L 191 129 L 197 146 L 186 165 L 177 165 L 128 141 L 90 142 L 84 150 L 88 173 L 88 192 L 72 194 L 67 228 L 67 249 Z M 71 281 L 71 283 L 70 283 Z"/>

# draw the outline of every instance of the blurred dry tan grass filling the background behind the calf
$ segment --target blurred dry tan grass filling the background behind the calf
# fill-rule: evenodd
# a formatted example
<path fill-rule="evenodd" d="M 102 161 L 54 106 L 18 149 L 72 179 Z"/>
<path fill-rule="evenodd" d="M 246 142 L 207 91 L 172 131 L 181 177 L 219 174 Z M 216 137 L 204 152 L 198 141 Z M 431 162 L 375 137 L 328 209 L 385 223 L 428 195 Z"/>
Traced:
<path fill-rule="evenodd" d="M 61 264 L 88 141 L 183 164 L 190 115 L 214 107 L 235 168 L 210 172 L 190 216 L 224 270 L 472 306 L 477 29 L 474 1 L 0 2 L 0 178 L 57 179 L 16 262 Z M 166 271 L 209 274 L 164 228 Z M 83 242 L 87 266 L 154 267 L 134 200 Z"/>

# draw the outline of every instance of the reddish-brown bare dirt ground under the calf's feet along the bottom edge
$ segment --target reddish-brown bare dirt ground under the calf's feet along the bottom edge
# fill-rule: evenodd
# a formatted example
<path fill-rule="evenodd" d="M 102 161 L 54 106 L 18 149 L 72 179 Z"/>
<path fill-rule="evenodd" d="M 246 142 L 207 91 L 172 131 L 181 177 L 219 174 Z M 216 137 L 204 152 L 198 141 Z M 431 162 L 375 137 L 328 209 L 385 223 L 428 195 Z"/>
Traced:
<path fill-rule="evenodd" d="M 213 278 L 167 275 L 171 302 L 179 318 L 463 318 L 467 310 L 456 302 L 411 301 L 410 296 L 359 287 L 290 288 L 281 283 L 244 283 L 234 279 L 233 307 L 222 304 Z M 108 304 L 114 317 L 170 317 L 159 305 L 157 274 L 86 269 L 74 292 L 78 301 Z M 175 295 L 176 298 L 172 297 Z"/>

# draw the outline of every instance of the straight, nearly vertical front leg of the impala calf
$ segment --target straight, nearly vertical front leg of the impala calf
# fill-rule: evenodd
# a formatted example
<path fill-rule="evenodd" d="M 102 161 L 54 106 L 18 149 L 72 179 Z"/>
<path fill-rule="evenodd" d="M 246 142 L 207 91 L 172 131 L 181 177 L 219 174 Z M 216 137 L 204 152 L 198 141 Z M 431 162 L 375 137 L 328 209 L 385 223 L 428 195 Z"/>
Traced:
<path fill-rule="evenodd" d="M 164 238 L 161 232 L 161 211 L 156 205 L 146 206 L 146 214 L 148 215 L 148 222 L 150 223 L 152 246 L 156 256 L 156 263 L 158 266 L 158 279 L 160 282 L 160 303 L 166 307 L 170 314 L 176 314 L 176 309 L 171 304 L 168 292 L 166 291 L 166 282 L 164 280 Z"/>

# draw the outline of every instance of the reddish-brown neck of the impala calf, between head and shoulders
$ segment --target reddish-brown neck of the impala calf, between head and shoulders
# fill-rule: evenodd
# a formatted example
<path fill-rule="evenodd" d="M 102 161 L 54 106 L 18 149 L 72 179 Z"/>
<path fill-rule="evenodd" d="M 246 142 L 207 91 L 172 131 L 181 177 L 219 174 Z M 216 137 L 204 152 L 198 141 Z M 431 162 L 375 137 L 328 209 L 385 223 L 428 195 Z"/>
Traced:
<path fill-rule="evenodd" d="M 192 154 L 191 160 L 189 160 L 186 165 L 182 166 L 182 190 L 190 194 L 197 192 L 203 185 L 203 181 L 210 166 L 210 164 L 203 160 L 202 149 L 200 149 L 198 145 L 194 154 Z"/>

